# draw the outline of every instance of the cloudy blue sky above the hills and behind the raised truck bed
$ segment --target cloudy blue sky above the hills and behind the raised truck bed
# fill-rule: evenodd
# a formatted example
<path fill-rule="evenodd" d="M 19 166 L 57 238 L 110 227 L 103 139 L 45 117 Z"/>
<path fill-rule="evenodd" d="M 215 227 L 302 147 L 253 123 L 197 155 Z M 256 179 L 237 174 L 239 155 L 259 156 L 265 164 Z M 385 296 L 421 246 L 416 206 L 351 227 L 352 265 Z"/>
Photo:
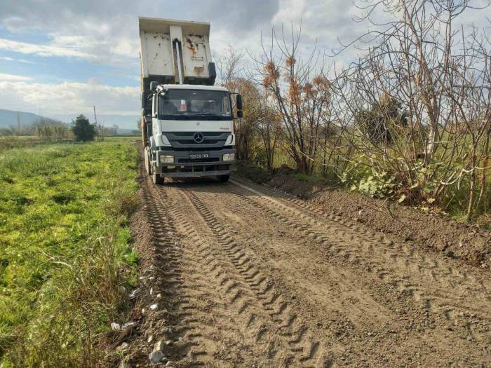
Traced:
<path fill-rule="evenodd" d="M 474 0 L 483 4 L 485 0 Z M 304 47 L 339 46 L 366 32 L 345 0 L 17 0 L 0 3 L 0 109 L 70 121 L 92 117 L 135 128 L 140 114 L 138 15 L 211 23 L 215 59 L 227 46 L 255 54 L 260 34 L 300 25 Z M 466 21 L 488 24 L 490 8 Z M 347 60 L 342 55 L 341 60 Z M 339 60 L 337 60 L 339 61 Z"/>

